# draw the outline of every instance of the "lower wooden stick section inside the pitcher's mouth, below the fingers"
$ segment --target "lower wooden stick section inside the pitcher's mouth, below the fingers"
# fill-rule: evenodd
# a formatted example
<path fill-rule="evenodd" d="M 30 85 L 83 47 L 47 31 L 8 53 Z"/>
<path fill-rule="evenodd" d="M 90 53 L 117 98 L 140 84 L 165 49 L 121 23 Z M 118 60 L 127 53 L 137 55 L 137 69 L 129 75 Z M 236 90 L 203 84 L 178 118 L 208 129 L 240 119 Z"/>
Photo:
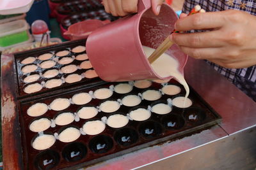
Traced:
<path fill-rule="evenodd" d="M 148 57 L 149 63 L 152 64 L 152 62 L 154 62 L 156 59 L 158 59 L 158 57 L 160 57 L 172 45 L 173 45 L 173 42 L 171 41 L 169 36 L 167 36 L 167 38 L 164 39 L 163 43 L 161 43 L 161 45 L 159 45 L 156 48 L 156 50 L 154 50 L 154 52 Z"/>

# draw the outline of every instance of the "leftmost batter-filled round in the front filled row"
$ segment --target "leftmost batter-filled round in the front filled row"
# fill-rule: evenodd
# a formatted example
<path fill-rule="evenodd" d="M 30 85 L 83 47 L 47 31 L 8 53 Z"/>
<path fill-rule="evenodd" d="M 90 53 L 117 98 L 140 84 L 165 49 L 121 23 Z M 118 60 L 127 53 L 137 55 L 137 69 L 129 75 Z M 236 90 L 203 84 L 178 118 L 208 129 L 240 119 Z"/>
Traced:
<path fill-rule="evenodd" d="M 42 136 L 38 136 L 32 143 L 32 147 L 36 150 L 46 150 L 50 148 L 56 139 L 51 134 L 43 134 Z"/>

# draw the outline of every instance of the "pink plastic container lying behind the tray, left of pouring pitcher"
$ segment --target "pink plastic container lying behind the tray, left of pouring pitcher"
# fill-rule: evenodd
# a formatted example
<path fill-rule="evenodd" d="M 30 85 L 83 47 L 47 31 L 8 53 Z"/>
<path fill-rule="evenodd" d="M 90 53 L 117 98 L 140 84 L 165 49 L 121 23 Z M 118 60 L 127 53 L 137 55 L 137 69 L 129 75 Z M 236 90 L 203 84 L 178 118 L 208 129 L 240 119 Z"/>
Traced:
<path fill-rule="evenodd" d="M 70 25 L 68 31 L 64 32 L 64 35 L 68 36 L 71 40 L 85 39 L 92 33 L 92 31 L 109 22 L 109 20 L 84 20 L 77 22 L 76 24 Z"/>

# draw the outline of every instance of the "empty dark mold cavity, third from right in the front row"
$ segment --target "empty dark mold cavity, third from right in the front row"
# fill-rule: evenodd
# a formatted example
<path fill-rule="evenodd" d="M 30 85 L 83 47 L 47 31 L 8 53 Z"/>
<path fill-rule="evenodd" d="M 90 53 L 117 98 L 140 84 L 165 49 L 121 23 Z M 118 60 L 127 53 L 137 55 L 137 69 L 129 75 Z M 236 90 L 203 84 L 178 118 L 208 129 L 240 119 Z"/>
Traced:
<path fill-rule="evenodd" d="M 154 121 L 146 121 L 140 124 L 139 132 L 145 138 L 155 138 L 163 132 L 161 124 Z"/>

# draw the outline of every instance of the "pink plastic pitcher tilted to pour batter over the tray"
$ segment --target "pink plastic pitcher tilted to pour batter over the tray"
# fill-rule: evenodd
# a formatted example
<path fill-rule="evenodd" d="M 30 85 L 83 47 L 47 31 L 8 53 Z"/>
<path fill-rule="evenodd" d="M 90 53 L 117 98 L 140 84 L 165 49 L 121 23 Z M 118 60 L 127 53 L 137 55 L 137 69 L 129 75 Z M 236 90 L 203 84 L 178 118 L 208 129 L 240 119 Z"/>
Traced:
<path fill-rule="evenodd" d="M 87 39 L 86 52 L 96 73 L 105 81 L 172 78 L 163 78 L 154 72 L 142 45 L 156 49 L 173 31 L 177 19 L 168 4 L 163 4 L 156 16 L 150 0 L 140 0 L 136 15 L 120 18 L 93 31 Z M 179 71 L 183 73 L 188 55 L 177 45 L 166 53 L 179 61 Z"/>

